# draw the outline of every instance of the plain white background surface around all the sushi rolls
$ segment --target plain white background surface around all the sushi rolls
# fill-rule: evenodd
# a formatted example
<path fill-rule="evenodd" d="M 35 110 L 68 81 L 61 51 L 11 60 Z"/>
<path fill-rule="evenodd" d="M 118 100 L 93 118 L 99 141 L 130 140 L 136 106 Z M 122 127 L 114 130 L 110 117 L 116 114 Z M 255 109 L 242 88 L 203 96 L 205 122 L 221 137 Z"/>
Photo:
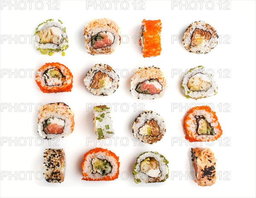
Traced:
<path fill-rule="evenodd" d="M 6 2 L 9 3 L 9 1 Z M 208 3 L 207 8 L 207 1 L 202 4 L 202 9 L 200 9 L 200 3 L 195 1 L 197 5 L 195 10 L 193 10 L 195 4 L 190 2 L 187 2 L 187 8 L 182 6 L 180 9 L 180 1 L 174 2 L 174 5 L 179 4 L 175 7 L 172 7 L 171 1 L 144 1 L 144 10 L 138 10 L 138 6 L 142 5 L 138 2 L 134 10 L 133 1 L 129 1 L 129 8 L 126 10 L 120 6 L 122 1 L 117 4 L 116 9 L 111 2 L 110 10 L 105 9 L 109 4 L 105 4 L 102 9 L 99 6 L 96 9 L 94 6 L 87 9 L 85 1 L 58 1 L 58 10 L 52 9 L 57 5 L 56 3 L 47 4 L 48 1 L 44 1 L 43 9 L 39 10 L 41 4 L 37 4 L 38 8 L 36 8 L 36 2 L 32 3 L 31 9 L 26 2 L 27 7 L 24 10 L 22 10 L 23 4 L 20 4 L 21 9 L 19 7 L 15 9 L 14 6 L 9 9 L 8 5 L 1 7 L 0 10 L 1 197 L 256 196 L 255 1 L 228 1 L 228 3 L 214 1 L 214 8 L 211 10 L 209 8 L 212 4 Z M 122 6 L 125 8 L 126 4 Z M 227 6 L 226 9 L 224 6 Z M 126 44 L 122 43 L 112 55 L 91 56 L 84 48 L 83 27 L 90 20 L 103 17 L 110 18 L 119 24 L 122 35 L 127 35 L 129 41 Z M 66 50 L 64 57 L 61 54 L 41 55 L 36 51 L 34 42 L 29 42 L 29 35 L 34 34 L 38 24 L 49 18 L 61 19 L 67 29 L 70 47 Z M 143 58 L 139 44 L 134 43 L 132 38 L 134 35 L 138 37 L 141 21 L 144 18 L 160 19 L 163 23 L 162 53 L 158 57 Z M 186 27 L 197 20 L 211 24 L 221 38 L 216 48 L 206 55 L 189 53 L 179 40 L 172 39 L 175 35 L 182 35 Z M 3 39 L 3 35 L 7 36 L 7 40 L 6 36 Z M 15 38 L 15 35 L 17 35 L 17 43 L 15 40 L 9 40 Z M 26 41 L 23 43 L 24 37 Z M 48 62 L 60 62 L 69 67 L 74 76 L 72 92 L 46 94 L 40 91 L 35 83 L 35 71 Z M 120 77 L 120 86 L 113 95 L 94 96 L 84 87 L 83 79 L 86 70 L 96 63 L 109 64 L 113 69 L 119 69 L 117 73 Z M 166 95 L 152 101 L 133 98 L 129 92 L 132 71 L 141 66 L 152 65 L 159 66 L 166 76 L 168 83 Z M 213 70 L 219 92 L 215 96 L 201 100 L 186 99 L 180 89 L 181 80 L 186 69 L 198 65 Z M 15 69 L 17 69 L 17 77 L 14 74 L 9 76 L 10 72 L 15 72 Z M 33 69 L 31 77 L 27 69 Z M 128 77 L 125 77 L 125 71 L 121 72 L 122 69 L 128 70 Z M 23 77 L 24 70 L 26 77 Z M 183 73 L 180 74 L 180 72 Z M 38 103 L 53 102 L 64 102 L 70 106 L 75 113 L 75 129 L 73 134 L 58 142 L 44 140 L 41 145 L 41 139 L 38 138 L 37 133 L 38 112 L 35 106 Z M 31 109 L 28 103 L 33 103 Z M 88 143 L 95 137 L 92 109 L 87 108 L 91 103 L 93 105 L 94 103 L 111 104 L 115 137 L 119 138 L 116 140 L 116 145 L 113 140 L 110 146 L 106 145 L 108 141 L 105 141 L 102 146 L 100 141 Z M 116 110 L 114 103 L 119 103 Z M 127 103 L 127 112 L 120 108 L 122 103 Z M 221 138 L 212 145 L 189 144 L 184 138 L 183 117 L 189 107 L 199 103 L 211 103 L 223 129 Z M 15 104 L 17 109 L 9 109 Z M 153 145 L 139 146 L 140 142 L 133 140 L 131 125 L 134 118 L 139 115 L 141 106 L 143 109 L 159 113 L 166 121 L 166 135 L 160 142 Z M 181 106 L 183 108 L 180 109 Z M 122 107 L 126 110 L 126 105 Z M 31 139 L 31 145 L 28 138 Z M 123 138 L 122 141 L 121 138 Z M 128 145 L 125 146 L 127 140 Z M 104 141 L 101 142 L 104 143 Z M 53 145 L 54 143 L 59 146 Z M 199 187 L 189 175 L 190 149 L 195 146 L 208 146 L 215 152 L 218 179 L 212 187 Z M 83 154 L 95 147 L 110 149 L 119 156 L 122 178 L 119 176 L 116 181 L 110 182 L 81 180 Z M 43 171 L 43 152 L 46 148 L 63 148 L 66 152 L 66 175 L 62 184 L 50 184 L 44 178 L 36 179 L 41 177 L 40 174 L 36 176 L 36 172 Z M 134 183 L 133 164 L 137 156 L 145 151 L 160 152 L 169 160 L 170 173 L 166 182 Z M 29 171 L 31 171 L 31 178 L 29 178 Z M 126 172 L 129 174 L 128 178 Z M 17 178 L 11 174 L 16 174 Z"/>

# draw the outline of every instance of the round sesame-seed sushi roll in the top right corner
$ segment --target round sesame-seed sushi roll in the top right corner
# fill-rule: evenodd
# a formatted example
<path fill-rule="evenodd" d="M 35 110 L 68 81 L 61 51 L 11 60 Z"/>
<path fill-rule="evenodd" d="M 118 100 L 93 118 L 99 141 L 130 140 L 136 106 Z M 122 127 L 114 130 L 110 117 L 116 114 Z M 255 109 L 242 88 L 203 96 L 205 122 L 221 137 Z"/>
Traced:
<path fill-rule="evenodd" d="M 207 54 L 218 44 L 218 34 L 208 23 L 196 21 L 187 27 L 182 42 L 189 52 Z"/>

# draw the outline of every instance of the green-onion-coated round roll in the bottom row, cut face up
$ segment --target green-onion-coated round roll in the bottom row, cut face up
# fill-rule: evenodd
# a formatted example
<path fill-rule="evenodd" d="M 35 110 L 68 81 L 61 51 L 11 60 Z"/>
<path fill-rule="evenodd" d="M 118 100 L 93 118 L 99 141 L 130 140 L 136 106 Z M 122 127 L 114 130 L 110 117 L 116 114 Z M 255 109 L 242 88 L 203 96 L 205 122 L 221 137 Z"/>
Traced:
<path fill-rule="evenodd" d="M 135 183 L 163 182 L 168 178 L 169 161 L 158 152 L 143 152 L 134 164 Z"/>

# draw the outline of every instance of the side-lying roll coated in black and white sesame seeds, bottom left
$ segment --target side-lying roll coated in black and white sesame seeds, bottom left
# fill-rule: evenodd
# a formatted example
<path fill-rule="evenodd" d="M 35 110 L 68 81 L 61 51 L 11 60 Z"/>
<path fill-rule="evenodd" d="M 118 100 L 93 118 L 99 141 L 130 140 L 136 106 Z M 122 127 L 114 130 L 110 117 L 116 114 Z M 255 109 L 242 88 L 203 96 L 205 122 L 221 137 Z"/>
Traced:
<path fill-rule="evenodd" d="M 45 149 L 44 178 L 50 183 L 64 181 L 65 153 L 63 149 Z"/>

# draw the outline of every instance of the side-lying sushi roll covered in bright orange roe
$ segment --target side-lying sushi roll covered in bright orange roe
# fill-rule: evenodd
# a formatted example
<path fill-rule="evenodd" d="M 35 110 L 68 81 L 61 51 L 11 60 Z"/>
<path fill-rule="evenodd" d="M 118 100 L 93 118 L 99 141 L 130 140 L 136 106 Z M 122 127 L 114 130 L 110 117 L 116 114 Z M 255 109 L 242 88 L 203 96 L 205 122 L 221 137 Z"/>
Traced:
<path fill-rule="evenodd" d="M 143 20 L 141 26 L 140 46 L 143 57 L 159 56 L 161 54 L 161 20 Z"/>

